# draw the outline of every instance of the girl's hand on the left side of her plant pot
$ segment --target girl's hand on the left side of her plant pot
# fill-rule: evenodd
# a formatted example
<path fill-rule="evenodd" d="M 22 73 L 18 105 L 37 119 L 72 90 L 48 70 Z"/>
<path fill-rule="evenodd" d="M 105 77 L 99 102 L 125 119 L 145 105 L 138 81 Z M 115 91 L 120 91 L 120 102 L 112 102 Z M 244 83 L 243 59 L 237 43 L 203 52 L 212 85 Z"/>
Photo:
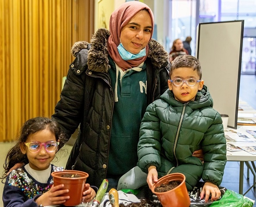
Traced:
<path fill-rule="evenodd" d="M 42 206 L 53 206 L 60 205 L 66 202 L 66 200 L 70 199 L 70 196 L 60 196 L 61 194 L 68 193 L 69 189 L 63 189 L 64 184 L 52 186 L 51 189 L 40 197 L 36 199 L 36 203 L 38 206 L 42 204 Z"/>

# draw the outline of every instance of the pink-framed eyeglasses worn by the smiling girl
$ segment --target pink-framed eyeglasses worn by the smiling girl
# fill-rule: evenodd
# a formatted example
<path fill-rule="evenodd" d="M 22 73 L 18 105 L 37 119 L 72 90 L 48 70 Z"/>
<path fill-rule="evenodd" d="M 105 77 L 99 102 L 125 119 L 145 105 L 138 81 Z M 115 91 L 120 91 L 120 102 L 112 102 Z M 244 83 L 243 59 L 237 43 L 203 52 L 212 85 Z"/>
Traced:
<path fill-rule="evenodd" d="M 41 143 L 39 141 L 32 141 L 32 142 L 24 142 L 26 146 L 28 146 L 28 150 L 31 152 L 38 152 L 42 145 L 44 145 L 44 149 L 47 152 L 54 152 L 57 150 L 58 145 L 60 144 L 59 141 L 47 141 L 44 143 Z"/>

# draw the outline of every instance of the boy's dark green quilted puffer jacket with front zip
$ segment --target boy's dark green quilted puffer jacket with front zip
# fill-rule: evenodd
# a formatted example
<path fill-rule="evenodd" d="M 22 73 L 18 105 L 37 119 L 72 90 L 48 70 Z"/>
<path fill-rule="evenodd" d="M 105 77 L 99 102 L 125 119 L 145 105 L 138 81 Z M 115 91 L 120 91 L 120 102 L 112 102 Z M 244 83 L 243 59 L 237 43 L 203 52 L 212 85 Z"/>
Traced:
<path fill-rule="evenodd" d="M 219 186 L 227 161 L 226 139 L 221 116 L 212 106 L 206 86 L 195 101 L 180 103 L 167 90 L 151 103 L 140 126 L 139 167 L 147 173 L 149 166 L 156 166 L 160 177 L 183 173 L 188 191 L 201 178 Z M 204 163 L 192 156 L 199 149 Z"/>

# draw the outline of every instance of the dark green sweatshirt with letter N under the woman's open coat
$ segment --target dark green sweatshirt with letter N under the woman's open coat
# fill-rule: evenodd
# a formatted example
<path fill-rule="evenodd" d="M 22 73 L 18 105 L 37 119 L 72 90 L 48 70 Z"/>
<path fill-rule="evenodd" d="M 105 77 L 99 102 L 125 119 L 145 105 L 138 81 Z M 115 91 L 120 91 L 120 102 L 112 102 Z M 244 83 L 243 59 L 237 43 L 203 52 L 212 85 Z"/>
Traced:
<path fill-rule="evenodd" d="M 115 88 L 116 66 L 113 60 L 110 60 L 110 65 L 111 87 Z M 147 107 L 146 88 L 142 86 L 146 86 L 147 81 L 145 69 L 144 64 L 140 72 L 126 72 L 121 82 L 119 72 L 118 101 L 114 103 L 113 110 L 108 175 L 123 175 L 138 162 L 139 126 Z"/>

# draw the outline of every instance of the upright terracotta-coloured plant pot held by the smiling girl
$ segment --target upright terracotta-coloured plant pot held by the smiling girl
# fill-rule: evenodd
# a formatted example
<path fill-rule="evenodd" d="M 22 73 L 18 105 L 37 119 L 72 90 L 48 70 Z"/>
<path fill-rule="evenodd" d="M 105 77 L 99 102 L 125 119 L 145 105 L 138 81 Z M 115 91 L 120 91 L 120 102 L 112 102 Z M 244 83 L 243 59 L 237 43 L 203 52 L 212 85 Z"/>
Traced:
<path fill-rule="evenodd" d="M 63 177 L 63 175 L 72 174 L 80 177 Z M 62 194 L 63 196 L 69 195 L 70 199 L 67 200 L 65 206 L 76 206 L 82 203 L 82 192 L 84 191 L 85 182 L 88 178 L 88 173 L 77 170 L 64 170 L 52 172 L 54 186 L 64 184 L 63 189 L 69 189 L 68 193 Z"/>

